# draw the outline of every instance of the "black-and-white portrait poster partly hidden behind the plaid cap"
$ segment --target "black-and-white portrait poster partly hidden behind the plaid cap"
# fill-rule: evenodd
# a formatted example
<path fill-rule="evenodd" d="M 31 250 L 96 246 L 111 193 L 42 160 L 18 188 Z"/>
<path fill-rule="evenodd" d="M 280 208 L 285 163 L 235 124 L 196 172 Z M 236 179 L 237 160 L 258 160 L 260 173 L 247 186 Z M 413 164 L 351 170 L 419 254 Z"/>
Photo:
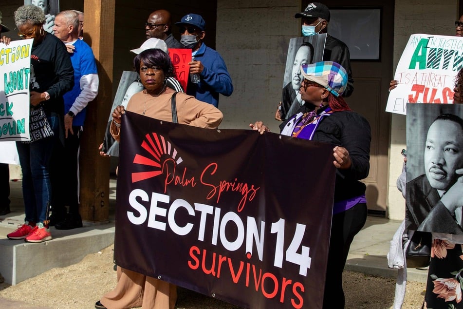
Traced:
<path fill-rule="evenodd" d="M 281 119 L 287 119 L 296 114 L 297 110 L 302 106 L 299 89 L 304 77 L 300 72 L 300 66 L 322 61 L 325 41 L 326 34 L 289 40 L 281 94 Z"/>

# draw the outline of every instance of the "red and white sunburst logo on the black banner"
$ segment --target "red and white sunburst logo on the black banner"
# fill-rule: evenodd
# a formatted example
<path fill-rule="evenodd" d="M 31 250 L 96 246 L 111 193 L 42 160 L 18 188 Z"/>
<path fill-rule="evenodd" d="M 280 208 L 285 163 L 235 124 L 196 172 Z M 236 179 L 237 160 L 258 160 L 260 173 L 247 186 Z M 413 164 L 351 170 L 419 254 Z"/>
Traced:
<path fill-rule="evenodd" d="M 177 150 L 162 135 L 156 133 L 145 135 L 145 140 L 141 146 L 149 153 L 150 157 L 136 154 L 133 163 L 145 165 L 149 171 L 132 173 L 132 183 L 162 174 L 161 155 L 170 155 L 177 164 L 183 161 Z"/>

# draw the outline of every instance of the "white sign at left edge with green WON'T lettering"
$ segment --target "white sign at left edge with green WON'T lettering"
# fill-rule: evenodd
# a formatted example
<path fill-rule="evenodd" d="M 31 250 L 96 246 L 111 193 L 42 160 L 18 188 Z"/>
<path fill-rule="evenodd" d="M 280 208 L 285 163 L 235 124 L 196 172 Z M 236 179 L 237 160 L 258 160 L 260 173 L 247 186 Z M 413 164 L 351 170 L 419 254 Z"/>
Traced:
<path fill-rule="evenodd" d="M 33 39 L 0 43 L 0 141 L 30 140 L 29 78 Z M 0 145 L 1 146 L 1 145 Z"/>

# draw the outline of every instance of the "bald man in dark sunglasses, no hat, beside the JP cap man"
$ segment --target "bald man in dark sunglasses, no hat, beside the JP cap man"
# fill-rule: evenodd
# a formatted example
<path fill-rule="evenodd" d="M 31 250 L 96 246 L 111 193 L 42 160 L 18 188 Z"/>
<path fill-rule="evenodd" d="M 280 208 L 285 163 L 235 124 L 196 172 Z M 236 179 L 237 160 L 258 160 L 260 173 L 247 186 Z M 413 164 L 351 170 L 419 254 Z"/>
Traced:
<path fill-rule="evenodd" d="M 146 38 L 162 39 L 166 42 L 167 48 L 185 48 L 172 35 L 171 24 L 172 19 L 168 11 L 157 10 L 152 12 L 145 22 Z"/>

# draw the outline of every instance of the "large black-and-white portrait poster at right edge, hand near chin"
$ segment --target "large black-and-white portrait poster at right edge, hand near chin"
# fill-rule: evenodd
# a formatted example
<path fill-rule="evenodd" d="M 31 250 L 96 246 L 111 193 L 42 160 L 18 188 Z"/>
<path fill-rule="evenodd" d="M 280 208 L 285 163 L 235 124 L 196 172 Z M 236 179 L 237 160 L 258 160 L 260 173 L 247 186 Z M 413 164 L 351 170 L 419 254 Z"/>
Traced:
<path fill-rule="evenodd" d="M 409 230 L 463 234 L 462 112 L 459 105 L 407 105 Z"/>

